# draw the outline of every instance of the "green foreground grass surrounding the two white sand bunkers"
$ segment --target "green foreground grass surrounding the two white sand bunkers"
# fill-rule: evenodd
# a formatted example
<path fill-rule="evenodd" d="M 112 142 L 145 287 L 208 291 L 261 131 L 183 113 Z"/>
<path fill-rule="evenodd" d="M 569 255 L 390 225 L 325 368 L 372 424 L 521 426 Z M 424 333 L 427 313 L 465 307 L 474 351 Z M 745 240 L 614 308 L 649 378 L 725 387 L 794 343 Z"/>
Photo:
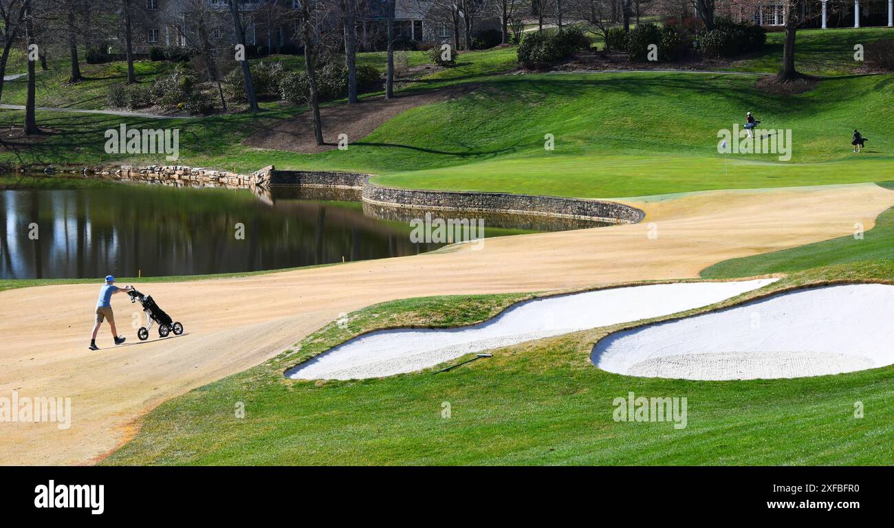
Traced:
<path fill-rule="evenodd" d="M 801 273 L 768 288 L 890 281 L 892 274 L 894 262 L 864 263 Z M 633 378 L 587 362 L 590 344 L 609 330 L 603 329 L 503 348 L 449 373 L 283 379 L 288 366 L 362 331 L 473 323 L 519 298 L 408 299 L 350 314 L 295 352 L 158 406 L 105 464 L 891 463 L 894 367 L 794 380 Z M 629 391 L 686 397 L 687 427 L 614 422 L 612 400 Z M 854 417 L 856 401 L 867 409 L 864 418 Z M 240 406 L 244 417 L 235 413 Z"/>

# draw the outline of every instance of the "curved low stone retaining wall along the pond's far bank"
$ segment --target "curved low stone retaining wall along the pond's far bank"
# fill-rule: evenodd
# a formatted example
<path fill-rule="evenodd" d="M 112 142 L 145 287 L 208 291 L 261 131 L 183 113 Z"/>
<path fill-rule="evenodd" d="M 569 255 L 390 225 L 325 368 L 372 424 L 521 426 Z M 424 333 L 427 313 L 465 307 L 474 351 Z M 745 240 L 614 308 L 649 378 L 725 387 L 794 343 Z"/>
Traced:
<path fill-rule="evenodd" d="M 645 213 L 629 205 L 604 200 L 538 197 L 510 193 L 392 189 L 370 183 L 369 174 L 353 172 L 277 171 L 269 165 L 251 174 L 214 171 L 182 165 L 122 166 L 97 170 L 104 177 L 164 185 L 254 189 L 272 188 L 361 190 L 364 204 L 420 211 L 477 211 L 522 214 L 572 220 L 637 223 Z"/>

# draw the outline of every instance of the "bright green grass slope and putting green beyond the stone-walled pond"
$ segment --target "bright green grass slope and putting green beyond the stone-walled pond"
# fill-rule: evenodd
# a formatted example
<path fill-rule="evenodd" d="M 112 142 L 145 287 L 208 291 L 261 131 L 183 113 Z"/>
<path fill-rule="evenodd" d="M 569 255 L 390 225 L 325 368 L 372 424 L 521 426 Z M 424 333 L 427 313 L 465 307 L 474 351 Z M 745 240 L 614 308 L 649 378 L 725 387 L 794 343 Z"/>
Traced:
<path fill-rule="evenodd" d="M 289 115 L 288 108 L 164 126 L 181 129 L 182 164 L 242 172 L 271 163 L 373 172 L 380 174 L 378 183 L 406 188 L 632 197 L 894 180 L 891 76 L 824 80 L 799 96 L 763 94 L 754 77 L 712 74 L 540 74 L 478 82 L 468 96 L 401 113 L 347 151 L 319 155 L 239 144 L 262 123 Z M 791 130 L 789 162 L 773 154 L 725 160 L 717 153 L 718 130 L 743 122 L 746 110 L 762 127 Z M 8 120 L 13 113 L 3 115 Z M 101 130 L 121 118 L 40 116 L 45 126 L 66 131 L 0 159 L 158 161 L 105 155 Z M 855 128 L 869 138 L 862 155 L 849 146 Z M 545 134 L 555 138 L 552 151 L 544 150 Z"/>

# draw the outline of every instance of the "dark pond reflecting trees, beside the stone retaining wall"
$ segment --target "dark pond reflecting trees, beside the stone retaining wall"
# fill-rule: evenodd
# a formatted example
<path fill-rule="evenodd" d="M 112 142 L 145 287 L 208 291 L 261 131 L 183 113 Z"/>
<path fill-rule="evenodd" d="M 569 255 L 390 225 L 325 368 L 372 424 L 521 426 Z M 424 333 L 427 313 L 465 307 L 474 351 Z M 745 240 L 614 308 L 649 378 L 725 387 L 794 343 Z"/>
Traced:
<path fill-rule="evenodd" d="M 258 197 L 246 189 L 0 176 L 0 279 L 254 272 L 443 246 L 411 239 L 409 216 L 424 212 L 374 211 L 354 199 L 343 190 Z M 485 236 L 594 225 L 487 215 Z"/>

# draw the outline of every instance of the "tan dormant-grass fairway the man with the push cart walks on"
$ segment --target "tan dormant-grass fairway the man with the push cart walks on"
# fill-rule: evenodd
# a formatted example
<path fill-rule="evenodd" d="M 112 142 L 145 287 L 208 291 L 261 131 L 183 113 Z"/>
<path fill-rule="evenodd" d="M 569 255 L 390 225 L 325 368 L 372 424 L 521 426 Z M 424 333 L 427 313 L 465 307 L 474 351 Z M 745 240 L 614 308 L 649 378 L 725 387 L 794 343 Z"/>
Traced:
<path fill-rule="evenodd" d="M 721 260 L 866 229 L 894 192 L 872 184 L 711 191 L 628 200 L 636 225 L 487 239 L 431 255 L 142 289 L 184 323 L 174 339 L 131 345 L 136 311 L 116 296 L 129 342 L 87 348 L 99 284 L 0 292 L 0 397 L 72 398 L 72 426 L 0 423 L 0 464 L 86 464 L 134 432 L 165 399 L 237 373 L 362 306 L 439 294 L 571 289 L 617 281 L 696 277 Z M 654 222 L 654 223 L 653 223 Z M 657 238 L 650 232 L 657 230 Z M 221 402 L 232 406 L 232 402 Z"/>

